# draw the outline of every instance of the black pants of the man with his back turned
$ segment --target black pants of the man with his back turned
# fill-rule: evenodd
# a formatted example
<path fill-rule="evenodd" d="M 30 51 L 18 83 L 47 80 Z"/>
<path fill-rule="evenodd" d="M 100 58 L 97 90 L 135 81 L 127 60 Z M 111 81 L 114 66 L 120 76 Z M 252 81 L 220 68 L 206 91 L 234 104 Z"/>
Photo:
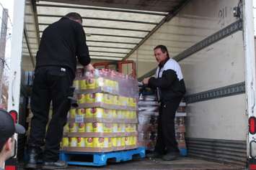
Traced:
<path fill-rule="evenodd" d="M 45 144 L 44 161 L 57 161 L 63 126 L 67 121 L 67 113 L 71 107 L 68 96 L 73 95 L 70 89 L 74 76 L 71 70 L 63 67 L 39 67 L 35 70 L 32 86 L 31 120 L 29 148 L 37 148 Z M 53 104 L 53 115 L 45 136 L 48 123 L 50 101 Z"/>

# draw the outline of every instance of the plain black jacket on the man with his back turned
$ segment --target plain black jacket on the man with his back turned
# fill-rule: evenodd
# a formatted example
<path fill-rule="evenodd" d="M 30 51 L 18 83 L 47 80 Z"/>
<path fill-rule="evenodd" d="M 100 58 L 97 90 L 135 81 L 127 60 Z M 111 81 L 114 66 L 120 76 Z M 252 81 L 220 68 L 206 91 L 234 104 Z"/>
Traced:
<path fill-rule="evenodd" d="M 84 29 L 66 17 L 50 24 L 44 31 L 36 56 L 36 68 L 67 67 L 76 72 L 76 56 L 81 65 L 90 63 Z"/>

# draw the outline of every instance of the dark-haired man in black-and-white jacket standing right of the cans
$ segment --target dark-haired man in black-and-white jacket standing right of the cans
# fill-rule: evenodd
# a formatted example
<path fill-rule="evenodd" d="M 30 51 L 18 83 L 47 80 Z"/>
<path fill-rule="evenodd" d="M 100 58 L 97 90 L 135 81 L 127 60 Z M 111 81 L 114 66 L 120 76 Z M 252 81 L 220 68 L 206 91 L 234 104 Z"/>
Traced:
<path fill-rule="evenodd" d="M 156 146 L 148 157 L 171 161 L 180 155 L 175 138 L 175 113 L 185 94 L 185 83 L 180 65 L 169 58 L 167 47 L 156 46 L 154 56 L 159 63 L 156 76 L 143 80 L 144 85 L 156 89 L 160 102 Z"/>

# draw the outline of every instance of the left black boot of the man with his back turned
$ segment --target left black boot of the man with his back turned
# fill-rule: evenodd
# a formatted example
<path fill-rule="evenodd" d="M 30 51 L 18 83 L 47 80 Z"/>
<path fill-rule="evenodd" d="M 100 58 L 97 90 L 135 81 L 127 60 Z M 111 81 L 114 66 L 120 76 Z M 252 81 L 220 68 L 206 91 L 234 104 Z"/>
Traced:
<path fill-rule="evenodd" d="M 41 148 L 29 148 L 27 150 L 27 162 L 25 169 L 37 169 L 37 164 L 42 162 L 42 150 Z"/>

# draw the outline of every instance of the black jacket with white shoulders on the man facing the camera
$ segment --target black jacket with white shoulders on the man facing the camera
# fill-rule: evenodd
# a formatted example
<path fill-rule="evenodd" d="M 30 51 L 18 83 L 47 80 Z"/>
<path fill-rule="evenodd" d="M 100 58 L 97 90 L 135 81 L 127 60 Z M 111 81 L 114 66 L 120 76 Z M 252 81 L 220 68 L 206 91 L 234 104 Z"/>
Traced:
<path fill-rule="evenodd" d="M 160 96 L 158 97 L 161 102 L 182 98 L 186 90 L 180 65 L 172 59 L 169 59 L 164 65 L 159 65 L 156 77 L 149 79 L 149 87 L 159 91 Z"/>

